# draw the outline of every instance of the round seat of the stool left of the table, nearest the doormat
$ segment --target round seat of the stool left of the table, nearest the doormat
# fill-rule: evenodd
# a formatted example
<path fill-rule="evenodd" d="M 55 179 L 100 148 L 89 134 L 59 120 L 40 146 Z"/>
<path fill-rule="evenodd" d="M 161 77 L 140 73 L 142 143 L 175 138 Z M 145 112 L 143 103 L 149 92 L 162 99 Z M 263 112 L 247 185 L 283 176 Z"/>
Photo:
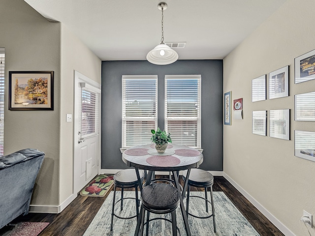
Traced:
<path fill-rule="evenodd" d="M 143 180 L 144 173 L 139 171 L 140 178 Z M 138 178 L 134 169 L 119 171 L 114 175 L 114 183 L 118 186 L 132 186 L 138 184 Z"/>

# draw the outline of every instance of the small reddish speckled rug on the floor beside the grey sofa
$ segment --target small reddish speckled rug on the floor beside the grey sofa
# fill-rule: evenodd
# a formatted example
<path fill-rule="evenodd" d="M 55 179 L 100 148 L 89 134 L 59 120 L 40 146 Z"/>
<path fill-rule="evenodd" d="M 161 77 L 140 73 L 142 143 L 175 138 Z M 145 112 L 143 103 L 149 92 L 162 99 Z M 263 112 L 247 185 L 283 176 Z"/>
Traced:
<path fill-rule="evenodd" d="M 48 222 L 22 222 L 22 225 L 9 236 L 37 236 L 47 225 L 49 225 Z"/>

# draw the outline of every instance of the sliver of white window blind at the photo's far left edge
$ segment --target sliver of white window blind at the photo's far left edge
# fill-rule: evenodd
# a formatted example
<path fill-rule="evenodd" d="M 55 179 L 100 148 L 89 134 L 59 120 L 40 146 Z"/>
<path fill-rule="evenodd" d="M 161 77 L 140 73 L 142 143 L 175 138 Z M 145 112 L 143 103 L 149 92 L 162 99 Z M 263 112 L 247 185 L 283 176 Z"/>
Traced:
<path fill-rule="evenodd" d="M 4 48 L 0 48 L 0 156 L 3 156 L 4 136 Z"/>

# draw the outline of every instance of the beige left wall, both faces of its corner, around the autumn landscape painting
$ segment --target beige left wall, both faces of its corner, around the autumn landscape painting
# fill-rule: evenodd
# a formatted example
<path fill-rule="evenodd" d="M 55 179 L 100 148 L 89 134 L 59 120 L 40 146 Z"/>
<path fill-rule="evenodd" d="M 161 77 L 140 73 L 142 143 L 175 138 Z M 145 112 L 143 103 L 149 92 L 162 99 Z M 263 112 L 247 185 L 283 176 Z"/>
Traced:
<path fill-rule="evenodd" d="M 100 83 L 101 61 L 61 23 L 47 21 L 24 0 L 0 1 L 2 47 L 4 154 L 23 148 L 45 152 L 31 211 L 60 211 L 73 197 L 73 122 L 65 122 L 65 114 L 74 111 L 74 70 Z M 41 70 L 54 71 L 54 111 L 9 111 L 9 71 Z"/>

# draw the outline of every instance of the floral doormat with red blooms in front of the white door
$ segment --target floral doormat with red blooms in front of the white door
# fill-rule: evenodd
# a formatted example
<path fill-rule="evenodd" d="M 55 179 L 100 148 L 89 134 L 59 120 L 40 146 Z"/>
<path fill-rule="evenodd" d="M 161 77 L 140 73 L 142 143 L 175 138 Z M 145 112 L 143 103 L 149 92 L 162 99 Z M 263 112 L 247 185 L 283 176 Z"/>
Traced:
<path fill-rule="evenodd" d="M 86 187 L 84 187 L 80 195 L 87 197 L 104 197 L 107 191 L 114 184 L 114 175 L 96 176 Z"/>

